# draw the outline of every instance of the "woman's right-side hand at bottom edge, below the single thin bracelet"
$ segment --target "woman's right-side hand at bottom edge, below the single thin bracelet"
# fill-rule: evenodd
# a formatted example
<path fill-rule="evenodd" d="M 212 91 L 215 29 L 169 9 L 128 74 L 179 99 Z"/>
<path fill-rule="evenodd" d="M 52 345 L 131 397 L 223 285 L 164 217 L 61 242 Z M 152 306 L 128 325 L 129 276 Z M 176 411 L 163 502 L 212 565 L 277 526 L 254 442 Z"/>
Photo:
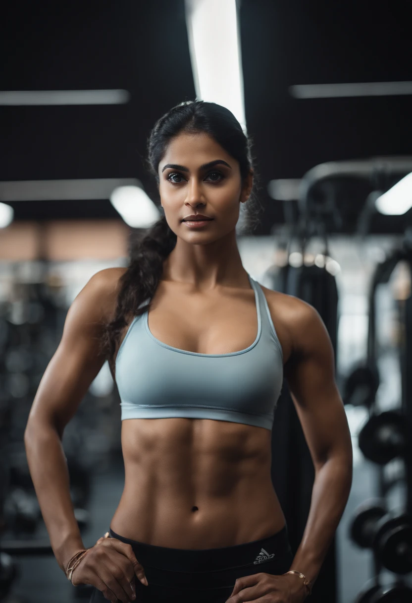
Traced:
<path fill-rule="evenodd" d="M 302 578 L 288 573 L 254 573 L 237 578 L 233 592 L 226 603 L 302 603 L 307 597 Z"/>

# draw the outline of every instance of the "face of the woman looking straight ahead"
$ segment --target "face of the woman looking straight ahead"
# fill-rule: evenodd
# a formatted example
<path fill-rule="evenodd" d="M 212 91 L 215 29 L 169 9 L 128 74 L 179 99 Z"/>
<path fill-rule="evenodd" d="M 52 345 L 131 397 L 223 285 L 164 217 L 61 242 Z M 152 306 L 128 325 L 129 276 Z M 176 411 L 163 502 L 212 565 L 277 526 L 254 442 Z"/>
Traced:
<path fill-rule="evenodd" d="M 210 243 L 233 231 L 253 180 L 251 171 L 242 186 L 239 162 L 208 134 L 182 133 L 173 138 L 158 174 L 167 224 L 189 243 Z M 184 221 L 193 214 L 213 219 L 195 228 Z"/>

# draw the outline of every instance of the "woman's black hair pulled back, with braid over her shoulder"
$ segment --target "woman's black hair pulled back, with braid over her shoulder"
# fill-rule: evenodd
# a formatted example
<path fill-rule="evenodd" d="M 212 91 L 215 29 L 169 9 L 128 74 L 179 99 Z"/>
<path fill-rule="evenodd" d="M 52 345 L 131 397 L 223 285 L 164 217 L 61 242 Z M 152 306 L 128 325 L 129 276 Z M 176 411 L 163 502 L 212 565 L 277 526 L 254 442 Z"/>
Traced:
<path fill-rule="evenodd" d="M 184 101 L 172 107 L 155 123 L 148 138 L 149 172 L 159 184 L 158 165 L 170 140 L 180 133 L 207 133 L 239 162 L 242 182 L 252 168 L 254 183 L 246 203 L 240 204 L 242 223 L 237 232 L 252 232 L 259 223 L 261 210 L 258 201 L 257 173 L 251 154 L 251 138 L 246 136 L 236 117 L 221 105 L 204 101 Z M 242 207 L 246 206 L 242 215 Z M 239 225 L 238 223 L 238 225 Z M 113 372 L 113 356 L 119 343 L 120 333 L 134 316 L 150 308 L 150 301 L 157 289 L 163 272 L 163 262 L 176 244 L 176 235 L 170 229 L 165 216 L 143 231 L 131 232 L 129 241 L 129 265 L 119 279 L 119 292 L 113 320 L 105 325 L 102 350 Z M 148 300 L 148 303 L 142 305 Z M 140 306 L 140 308 L 139 308 Z"/>

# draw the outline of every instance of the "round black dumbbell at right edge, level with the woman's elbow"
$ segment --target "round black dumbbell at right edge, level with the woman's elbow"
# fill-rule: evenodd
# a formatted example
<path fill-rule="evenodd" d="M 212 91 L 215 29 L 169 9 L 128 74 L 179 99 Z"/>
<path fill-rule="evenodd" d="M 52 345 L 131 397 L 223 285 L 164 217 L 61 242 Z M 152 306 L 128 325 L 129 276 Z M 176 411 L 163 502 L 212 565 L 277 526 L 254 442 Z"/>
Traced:
<path fill-rule="evenodd" d="M 402 411 L 373 414 L 358 436 L 364 456 L 373 463 L 385 465 L 397 456 L 403 456 L 408 447 L 408 422 Z"/>

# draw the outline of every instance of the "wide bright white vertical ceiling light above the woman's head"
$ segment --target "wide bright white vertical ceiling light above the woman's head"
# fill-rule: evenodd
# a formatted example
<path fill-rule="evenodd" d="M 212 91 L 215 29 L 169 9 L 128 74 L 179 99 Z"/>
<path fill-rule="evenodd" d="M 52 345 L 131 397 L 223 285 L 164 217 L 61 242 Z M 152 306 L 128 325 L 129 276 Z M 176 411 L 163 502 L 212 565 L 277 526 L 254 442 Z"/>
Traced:
<path fill-rule="evenodd" d="M 246 132 L 236 0 L 185 0 L 198 100 L 229 109 Z"/>

